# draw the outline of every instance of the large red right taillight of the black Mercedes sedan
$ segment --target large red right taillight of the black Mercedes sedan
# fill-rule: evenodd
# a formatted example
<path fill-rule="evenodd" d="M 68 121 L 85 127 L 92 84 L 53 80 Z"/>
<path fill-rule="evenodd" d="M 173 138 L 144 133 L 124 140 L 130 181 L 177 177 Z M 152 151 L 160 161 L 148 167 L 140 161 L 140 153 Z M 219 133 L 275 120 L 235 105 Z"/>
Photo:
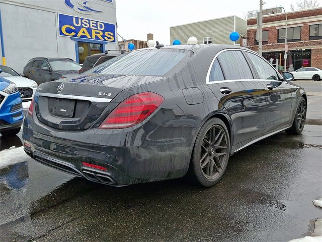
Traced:
<path fill-rule="evenodd" d="M 138 93 L 126 98 L 104 120 L 100 129 L 123 129 L 141 123 L 165 100 L 153 92 Z"/>

